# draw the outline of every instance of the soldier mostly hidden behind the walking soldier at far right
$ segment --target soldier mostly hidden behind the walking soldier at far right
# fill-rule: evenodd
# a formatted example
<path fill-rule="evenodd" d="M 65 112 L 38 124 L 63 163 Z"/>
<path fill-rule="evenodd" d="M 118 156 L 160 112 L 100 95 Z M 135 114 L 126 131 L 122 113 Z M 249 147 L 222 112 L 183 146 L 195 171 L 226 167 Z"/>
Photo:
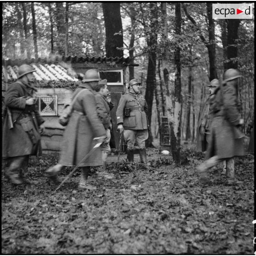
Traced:
<path fill-rule="evenodd" d="M 197 130 L 197 149 L 204 152 L 207 149 L 207 144 L 209 143 L 209 134 L 211 126 L 211 115 L 209 113 L 212 100 L 214 98 L 214 91 L 219 87 L 218 79 L 211 80 L 209 87 L 209 97 L 206 99 L 206 102 L 202 108 L 199 121 L 198 121 L 198 130 Z"/>

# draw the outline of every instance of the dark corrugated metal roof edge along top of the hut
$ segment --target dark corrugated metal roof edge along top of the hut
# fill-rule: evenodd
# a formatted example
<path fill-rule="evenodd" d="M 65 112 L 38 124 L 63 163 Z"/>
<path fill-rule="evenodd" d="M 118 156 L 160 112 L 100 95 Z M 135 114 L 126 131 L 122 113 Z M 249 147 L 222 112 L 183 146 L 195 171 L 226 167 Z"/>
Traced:
<path fill-rule="evenodd" d="M 2 65 L 4 66 L 20 66 L 22 64 L 31 64 L 31 63 L 46 63 L 46 64 L 56 64 L 57 62 L 67 62 L 70 61 L 71 63 L 120 63 L 122 65 L 129 64 L 130 58 L 120 58 L 120 57 L 79 57 L 79 56 L 55 56 L 55 57 L 48 57 L 48 58 L 38 58 L 38 59 L 15 59 L 15 60 L 2 60 Z"/>

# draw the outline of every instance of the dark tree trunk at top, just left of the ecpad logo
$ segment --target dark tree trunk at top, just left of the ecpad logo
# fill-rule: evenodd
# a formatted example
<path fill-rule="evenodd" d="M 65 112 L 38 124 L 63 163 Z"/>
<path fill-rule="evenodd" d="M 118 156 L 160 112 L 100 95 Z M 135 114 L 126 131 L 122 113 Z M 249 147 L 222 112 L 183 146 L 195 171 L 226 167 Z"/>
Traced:
<path fill-rule="evenodd" d="M 212 3 L 206 3 L 206 12 L 208 18 L 208 32 L 209 32 L 209 42 L 207 44 L 208 55 L 209 55 L 209 66 L 210 66 L 210 78 L 213 80 L 217 77 L 217 67 L 216 67 L 216 43 L 215 43 L 215 26 L 214 20 L 212 18 Z"/>

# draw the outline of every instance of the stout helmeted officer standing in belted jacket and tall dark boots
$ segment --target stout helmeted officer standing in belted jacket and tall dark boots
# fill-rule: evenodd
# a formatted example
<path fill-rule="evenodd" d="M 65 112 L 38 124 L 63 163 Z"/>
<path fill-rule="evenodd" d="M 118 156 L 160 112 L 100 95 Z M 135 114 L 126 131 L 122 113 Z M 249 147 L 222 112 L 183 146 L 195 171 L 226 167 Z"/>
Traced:
<path fill-rule="evenodd" d="M 117 106 L 117 130 L 122 133 L 127 142 L 127 158 L 134 161 L 134 143 L 139 146 L 139 156 L 142 163 L 147 163 L 145 140 L 148 139 L 147 103 L 140 94 L 140 84 L 132 79 L 128 84 L 129 92 L 122 95 Z"/>

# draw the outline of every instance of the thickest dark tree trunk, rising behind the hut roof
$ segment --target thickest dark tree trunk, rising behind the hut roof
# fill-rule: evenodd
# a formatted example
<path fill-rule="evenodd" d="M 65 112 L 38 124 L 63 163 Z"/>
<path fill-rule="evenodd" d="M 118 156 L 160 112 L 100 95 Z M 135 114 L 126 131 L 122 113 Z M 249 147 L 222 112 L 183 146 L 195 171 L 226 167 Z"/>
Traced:
<path fill-rule="evenodd" d="M 102 2 L 106 30 L 106 57 L 123 57 L 122 19 L 119 2 Z"/>

